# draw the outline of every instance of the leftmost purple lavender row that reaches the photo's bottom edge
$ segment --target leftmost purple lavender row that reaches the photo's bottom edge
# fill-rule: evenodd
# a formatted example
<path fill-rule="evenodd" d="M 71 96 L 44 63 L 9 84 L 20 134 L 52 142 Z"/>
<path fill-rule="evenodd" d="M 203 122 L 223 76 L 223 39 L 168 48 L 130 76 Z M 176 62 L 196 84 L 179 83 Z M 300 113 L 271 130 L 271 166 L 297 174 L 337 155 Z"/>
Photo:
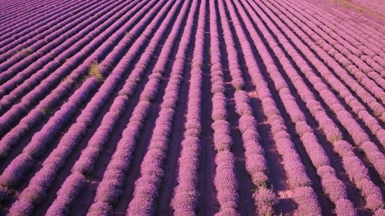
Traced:
<path fill-rule="evenodd" d="M 158 15 L 162 17 L 162 15 L 167 12 L 168 6 L 169 5 L 165 5 L 162 10 L 160 10 L 160 7 L 162 7 L 161 3 L 153 6 L 151 11 L 146 14 L 146 17 L 144 17 L 141 22 L 138 23 L 138 25 L 144 26 L 146 22 L 148 22 L 148 20 L 150 20 L 153 15 L 157 14 L 158 12 Z M 151 34 L 151 31 L 155 29 L 156 24 L 158 24 L 157 22 L 159 21 L 160 19 L 157 19 L 155 22 L 148 26 L 149 34 Z M 125 38 L 125 41 L 122 42 L 128 44 L 130 41 L 130 38 Z M 87 103 L 85 109 L 82 110 L 81 114 L 76 120 L 76 123 L 69 128 L 69 131 L 64 134 L 55 150 L 53 150 L 48 158 L 45 159 L 41 170 L 34 175 L 34 178 L 32 178 L 29 182 L 28 187 L 20 194 L 19 200 L 13 204 L 12 208 L 10 208 L 10 213 L 13 213 L 13 211 L 15 213 L 19 213 L 20 210 L 25 211 L 23 207 L 26 206 L 26 203 L 33 203 L 34 206 L 36 206 L 38 205 L 39 201 L 45 198 L 45 192 L 50 188 L 53 180 L 55 180 L 57 171 L 59 171 L 59 168 L 64 166 L 65 161 L 71 154 L 73 148 L 76 147 L 78 141 L 80 141 L 80 138 L 86 133 L 87 126 L 92 123 L 94 117 L 99 113 L 99 110 L 102 108 L 102 106 L 104 106 L 106 101 L 109 99 L 109 96 L 111 96 L 113 90 L 118 85 L 118 81 L 122 77 L 123 73 L 125 73 L 126 70 L 121 69 L 121 66 L 125 65 L 127 67 L 130 65 L 146 41 L 147 38 L 143 36 L 138 38 L 134 45 L 132 45 L 131 49 L 127 52 L 127 55 L 125 55 L 123 58 L 122 64 L 118 70 L 112 71 L 109 77 L 106 78 L 104 84 L 102 87 L 100 87 L 99 92 L 97 92 L 97 94 L 92 97 L 90 103 Z M 124 50 L 119 49 L 113 50 L 111 55 L 120 55 L 123 51 Z M 106 59 L 111 59 L 111 57 L 107 57 Z M 103 66 L 101 65 L 101 67 Z M 45 176 L 45 178 L 41 178 L 41 176 Z M 37 188 L 42 186 L 43 189 L 37 190 Z M 34 196 L 32 198 L 30 196 L 31 192 L 34 192 Z M 29 208 L 29 210 L 31 210 L 31 208 Z"/>

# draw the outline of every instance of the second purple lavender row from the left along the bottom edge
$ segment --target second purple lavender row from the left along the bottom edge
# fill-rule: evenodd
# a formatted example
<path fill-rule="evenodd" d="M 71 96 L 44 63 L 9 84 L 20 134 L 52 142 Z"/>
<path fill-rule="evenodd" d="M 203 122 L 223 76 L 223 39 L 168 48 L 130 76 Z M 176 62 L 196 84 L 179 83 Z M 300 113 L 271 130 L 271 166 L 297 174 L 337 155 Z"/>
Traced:
<path fill-rule="evenodd" d="M 180 2 L 176 3 L 174 7 L 178 7 Z M 185 6 L 184 10 L 187 9 Z M 173 13 L 169 13 L 169 15 L 165 18 L 165 22 L 162 22 L 157 32 L 155 32 L 154 37 L 151 39 L 146 51 L 143 55 L 141 55 L 141 59 L 135 66 L 135 69 L 130 74 L 129 78 L 127 78 L 126 83 L 123 89 L 120 90 L 120 93 L 116 99 L 114 99 L 113 104 L 106 115 L 104 115 L 103 120 L 96 133 L 92 136 L 90 141 L 88 141 L 87 147 L 82 151 L 80 155 L 80 159 L 76 161 L 76 164 L 72 168 L 72 174 L 67 178 L 66 182 L 62 185 L 62 189 L 57 192 L 57 199 L 52 203 L 46 215 L 66 215 L 69 212 L 69 206 L 71 203 L 76 200 L 78 196 L 78 192 L 80 192 L 82 188 L 82 182 L 85 180 L 84 174 L 89 174 L 92 172 L 94 168 L 94 163 L 99 157 L 99 149 L 101 149 L 108 141 L 108 138 L 113 131 L 113 127 L 118 122 L 120 115 L 124 112 L 125 107 L 127 106 L 128 100 L 134 94 L 134 89 L 137 87 L 137 79 L 141 78 L 142 73 L 146 70 L 148 64 L 150 63 L 151 58 L 155 52 L 156 47 L 158 46 L 163 34 L 169 23 L 174 16 L 175 9 L 171 10 Z M 147 31 L 147 30 L 146 30 Z M 146 31 L 144 34 L 146 34 Z M 141 37 L 145 37 L 142 35 Z M 117 70 L 125 71 L 126 66 L 121 66 L 118 64 L 116 67 Z M 144 91 L 146 91 L 145 88 Z M 121 94 L 125 92 L 125 94 Z M 139 102 L 140 103 L 140 102 Z M 135 111 L 134 111 L 135 112 Z M 141 113 L 142 115 L 146 114 L 146 112 Z M 71 197 L 71 199 L 67 199 L 67 197 Z"/>

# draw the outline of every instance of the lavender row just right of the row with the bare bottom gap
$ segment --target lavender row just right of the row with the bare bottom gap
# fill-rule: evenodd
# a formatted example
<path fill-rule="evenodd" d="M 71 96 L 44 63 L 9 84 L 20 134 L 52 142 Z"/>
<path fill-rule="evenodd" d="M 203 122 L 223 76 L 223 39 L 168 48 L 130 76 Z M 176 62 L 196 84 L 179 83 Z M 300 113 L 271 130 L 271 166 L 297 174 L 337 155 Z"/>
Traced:
<path fill-rule="evenodd" d="M 235 11 L 229 11 L 231 19 L 237 19 Z M 264 80 L 258 68 L 258 64 L 255 61 L 253 51 L 251 50 L 251 45 L 239 24 L 235 25 L 235 31 L 239 41 L 241 41 L 241 48 L 244 52 L 246 66 L 248 67 L 248 71 L 251 73 L 251 78 L 255 85 L 256 91 L 260 97 L 260 100 L 262 101 L 263 113 L 266 115 L 268 122 L 272 126 L 272 129 L 274 129 L 276 133 L 280 134 L 280 136 L 273 136 L 273 139 L 276 143 L 276 148 L 279 154 L 282 156 L 283 168 L 288 175 L 288 183 L 294 192 L 293 198 L 298 205 L 297 212 L 300 215 L 321 215 L 321 208 L 319 206 L 318 199 L 316 198 L 316 194 L 314 190 L 309 187 L 309 185 L 311 185 L 311 180 L 305 171 L 300 156 L 295 150 L 294 143 L 290 139 L 290 134 L 287 132 L 286 125 L 283 118 L 281 117 L 279 109 L 276 107 L 276 103 L 267 86 L 267 82 Z M 254 45 L 256 48 L 258 48 L 258 50 L 261 50 L 261 52 L 266 51 L 263 49 L 263 47 L 261 48 L 263 43 L 254 42 Z M 260 55 L 262 57 L 262 61 L 267 66 L 267 71 L 269 73 L 274 73 L 276 71 L 274 70 L 274 62 L 272 62 L 270 59 L 267 59 L 267 57 L 269 57 L 269 53 L 261 52 Z M 283 88 L 283 86 L 284 85 L 276 85 L 276 90 L 279 91 L 281 88 Z M 282 136 L 284 138 L 282 138 Z"/>

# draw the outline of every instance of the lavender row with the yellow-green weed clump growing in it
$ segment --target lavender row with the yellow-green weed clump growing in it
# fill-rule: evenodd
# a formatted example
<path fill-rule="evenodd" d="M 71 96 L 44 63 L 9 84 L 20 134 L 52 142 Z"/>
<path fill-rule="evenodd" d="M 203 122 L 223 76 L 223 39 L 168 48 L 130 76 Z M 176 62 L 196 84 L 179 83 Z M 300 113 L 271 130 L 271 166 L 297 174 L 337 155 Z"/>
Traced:
<path fill-rule="evenodd" d="M 151 6 L 152 6 L 151 4 L 148 4 L 147 6 L 142 8 L 142 10 L 140 10 L 139 13 L 137 13 L 137 15 L 140 15 L 141 13 L 146 13 L 148 8 L 150 8 Z M 148 20 L 150 20 L 151 17 L 154 15 L 154 13 L 156 12 L 156 9 L 157 8 L 154 8 L 153 10 L 151 10 L 151 13 L 147 13 L 146 17 L 144 17 L 141 20 L 141 22 L 137 24 L 137 26 L 144 27 L 146 22 L 148 22 Z M 139 32 L 134 32 L 134 34 L 139 34 Z M 73 94 L 69 98 L 69 101 L 67 103 L 64 103 L 62 108 L 57 113 L 55 113 L 55 115 L 51 117 L 50 120 L 48 120 L 48 122 L 44 125 L 43 129 L 41 129 L 41 131 L 38 131 L 36 134 L 34 134 L 34 136 L 31 138 L 31 142 L 23 150 L 23 153 L 29 154 L 33 159 L 38 159 L 42 156 L 42 154 L 45 152 L 46 145 L 48 145 L 52 141 L 54 136 L 58 134 L 59 131 L 61 131 L 62 127 L 64 127 L 64 124 L 66 124 L 66 122 L 71 120 L 71 116 L 76 112 L 76 110 L 78 110 L 78 106 L 80 106 L 80 104 L 83 103 L 85 99 L 87 99 L 87 96 L 91 93 L 92 89 L 97 87 L 98 82 L 102 81 L 98 77 L 99 75 L 98 73 L 100 73 L 103 77 L 108 75 L 109 73 L 107 72 L 106 67 L 112 68 L 113 64 L 116 61 L 118 61 L 119 55 L 124 52 L 125 47 L 131 42 L 132 42 L 132 38 L 125 37 L 122 41 L 120 41 L 120 46 L 117 45 L 114 48 L 114 50 L 110 52 L 109 55 L 107 55 L 107 57 L 104 59 L 102 64 L 100 64 L 99 66 L 97 64 L 94 64 L 94 66 L 92 66 L 92 68 L 90 69 L 90 73 L 91 73 L 90 75 L 93 75 L 94 77 L 87 79 L 83 83 L 83 85 L 80 86 L 80 89 L 78 89 L 75 92 L 75 94 Z M 130 57 L 132 57 L 134 56 L 135 53 L 128 52 L 127 54 L 130 55 Z M 92 74 L 93 71 L 97 71 L 97 73 Z M 107 88 L 109 89 L 107 91 L 105 87 L 106 85 L 103 85 L 102 86 L 103 93 L 109 94 L 113 90 L 113 87 L 116 86 L 116 82 L 117 82 L 116 80 L 118 80 L 118 78 L 116 78 L 116 80 L 112 82 L 111 79 L 113 78 L 116 78 L 116 74 L 113 74 L 112 78 L 109 78 L 109 80 L 106 80 L 105 82 L 106 85 L 107 86 L 111 85 L 111 87 Z M 99 106 L 99 104 L 102 105 L 103 104 L 102 101 L 105 101 L 106 98 L 107 96 L 99 96 L 99 95 L 94 96 L 91 102 L 89 103 L 89 106 L 95 106 L 95 105 Z M 92 108 L 91 109 L 92 114 L 96 114 L 97 110 L 98 108 Z M 90 115 L 90 110 L 85 109 L 83 111 L 86 113 L 84 115 L 86 116 Z M 81 124 L 83 123 L 84 122 L 82 121 Z M 79 129 L 82 127 L 75 126 L 74 128 Z M 82 131 L 82 130 L 78 130 L 78 132 L 79 131 Z M 20 154 L 18 157 L 25 158 L 22 156 L 22 154 Z M 16 175 L 17 173 L 20 173 L 20 175 L 23 176 L 23 174 L 29 171 L 28 168 L 25 168 L 24 166 L 15 165 L 15 164 L 25 163 L 24 161 L 20 162 L 18 160 L 18 157 L 16 157 L 16 159 L 14 160 L 15 162 L 11 162 L 10 165 L 8 165 L 8 167 L 3 171 L 3 175 L 1 175 L 0 177 L 0 182 L 6 182 L 4 183 L 4 185 L 7 185 L 8 187 L 9 186 L 14 187 L 15 185 L 18 184 L 18 182 L 20 182 L 21 179 L 20 177 L 18 177 L 18 175 Z"/>

